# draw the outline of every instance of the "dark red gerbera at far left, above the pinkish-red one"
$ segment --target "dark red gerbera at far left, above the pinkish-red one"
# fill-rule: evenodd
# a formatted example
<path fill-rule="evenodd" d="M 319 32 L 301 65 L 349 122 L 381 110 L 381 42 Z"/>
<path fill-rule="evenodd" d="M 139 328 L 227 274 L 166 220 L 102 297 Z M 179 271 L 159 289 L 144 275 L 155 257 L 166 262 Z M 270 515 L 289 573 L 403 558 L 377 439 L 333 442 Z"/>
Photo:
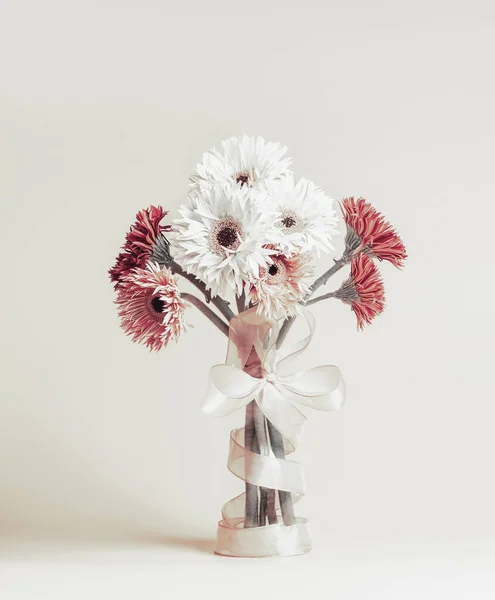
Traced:
<path fill-rule="evenodd" d="M 161 265 L 169 264 L 171 257 L 164 233 L 172 228 L 170 225 L 160 224 L 167 214 L 161 206 L 150 206 L 137 213 L 136 222 L 131 225 L 122 246 L 123 252 L 117 256 L 115 265 L 108 271 L 116 290 L 123 277 L 135 267 L 144 268 L 150 259 Z"/>

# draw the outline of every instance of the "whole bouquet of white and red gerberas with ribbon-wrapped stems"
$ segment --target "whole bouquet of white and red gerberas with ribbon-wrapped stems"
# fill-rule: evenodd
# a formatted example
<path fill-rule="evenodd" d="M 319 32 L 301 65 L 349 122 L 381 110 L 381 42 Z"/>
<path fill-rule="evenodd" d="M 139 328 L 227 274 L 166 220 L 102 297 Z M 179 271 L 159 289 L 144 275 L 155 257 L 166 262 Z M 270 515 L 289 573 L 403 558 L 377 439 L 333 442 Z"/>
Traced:
<path fill-rule="evenodd" d="M 109 271 L 122 328 L 133 341 L 161 350 L 186 330 L 191 306 L 228 338 L 226 362 L 211 369 L 202 406 L 215 416 L 245 411 L 228 457 L 245 491 L 224 505 L 217 532 L 215 551 L 228 556 L 310 550 L 308 522 L 294 515 L 306 491 L 304 473 L 286 456 L 306 418 L 300 408 L 338 410 L 345 386 L 335 366 L 295 368 L 314 332 L 308 307 L 336 298 L 362 329 L 384 308 L 376 261 L 401 267 L 406 259 L 384 217 L 364 198 L 345 198 L 344 249 L 314 279 L 315 258 L 334 252 L 339 216 L 319 187 L 296 181 L 285 155 L 280 144 L 247 136 L 206 152 L 178 218 L 164 223 L 161 207 L 139 212 Z M 318 295 L 346 266 L 344 283 Z M 198 293 L 181 293 L 181 278 Z M 287 344 L 296 318 L 308 333 Z"/>

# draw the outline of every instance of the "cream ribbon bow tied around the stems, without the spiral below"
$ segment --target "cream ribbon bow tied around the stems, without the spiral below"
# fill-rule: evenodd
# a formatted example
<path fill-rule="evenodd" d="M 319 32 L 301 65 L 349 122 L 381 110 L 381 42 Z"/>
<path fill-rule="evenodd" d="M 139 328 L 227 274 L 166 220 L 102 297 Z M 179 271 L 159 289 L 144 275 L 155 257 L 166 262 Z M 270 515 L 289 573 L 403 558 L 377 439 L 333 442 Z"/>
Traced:
<path fill-rule="evenodd" d="M 316 410 L 339 410 L 345 401 L 345 383 L 333 365 L 287 374 L 294 359 L 309 345 L 314 319 L 307 310 L 303 316 L 309 335 L 286 350 L 276 348 L 279 327 L 267 322 L 254 309 L 235 317 L 229 330 L 227 363 L 210 370 L 203 412 L 225 416 L 256 400 L 262 412 L 295 448 L 306 420 L 298 405 Z M 261 377 L 245 372 L 254 347 L 261 361 Z"/>

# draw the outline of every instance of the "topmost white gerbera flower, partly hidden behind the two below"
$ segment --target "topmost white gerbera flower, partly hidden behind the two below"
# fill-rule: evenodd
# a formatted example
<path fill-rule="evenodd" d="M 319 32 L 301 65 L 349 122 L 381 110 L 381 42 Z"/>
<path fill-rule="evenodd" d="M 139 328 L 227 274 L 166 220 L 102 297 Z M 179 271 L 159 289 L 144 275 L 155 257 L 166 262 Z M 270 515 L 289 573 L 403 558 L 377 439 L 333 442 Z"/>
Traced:
<path fill-rule="evenodd" d="M 222 142 L 221 151 L 213 148 L 203 154 L 190 177 L 191 188 L 199 189 L 218 183 L 235 182 L 239 187 L 263 188 L 267 183 L 279 181 L 290 171 L 290 158 L 277 142 L 265 142 L 262 137 L 230 138 Z"/>

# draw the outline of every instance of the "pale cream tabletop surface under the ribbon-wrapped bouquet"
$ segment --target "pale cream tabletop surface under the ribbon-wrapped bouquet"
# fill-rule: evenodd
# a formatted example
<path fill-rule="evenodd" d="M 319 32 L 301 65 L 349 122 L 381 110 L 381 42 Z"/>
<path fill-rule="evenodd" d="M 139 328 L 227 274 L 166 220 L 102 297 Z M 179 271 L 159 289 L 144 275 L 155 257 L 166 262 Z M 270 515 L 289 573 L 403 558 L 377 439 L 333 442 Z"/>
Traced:
<path fill-rule="evenodd" d="M 1 598 L 495 597 L 495 544 L 318 543 L 304 556 L 255 560 L 218 557 L 212 548 L 213 540 L 160 537 L 4 540 Z"/>

